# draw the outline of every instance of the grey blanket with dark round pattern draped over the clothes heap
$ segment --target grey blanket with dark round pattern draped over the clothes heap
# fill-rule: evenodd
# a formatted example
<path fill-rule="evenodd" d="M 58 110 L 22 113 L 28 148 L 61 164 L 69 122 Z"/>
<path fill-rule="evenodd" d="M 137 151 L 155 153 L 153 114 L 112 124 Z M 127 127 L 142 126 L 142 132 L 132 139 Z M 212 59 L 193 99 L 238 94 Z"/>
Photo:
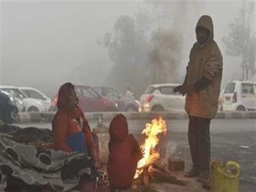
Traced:
<path fill-rule="evenodd" d="M 92 159 L 84 154 L 38 152 L 32 145 L 0 136 L 0 189 L 6 188 L 11 177 L 29 186 L 70 191 L 76 188 L 84 173 L 91 176 L 96 173 Z"/>

